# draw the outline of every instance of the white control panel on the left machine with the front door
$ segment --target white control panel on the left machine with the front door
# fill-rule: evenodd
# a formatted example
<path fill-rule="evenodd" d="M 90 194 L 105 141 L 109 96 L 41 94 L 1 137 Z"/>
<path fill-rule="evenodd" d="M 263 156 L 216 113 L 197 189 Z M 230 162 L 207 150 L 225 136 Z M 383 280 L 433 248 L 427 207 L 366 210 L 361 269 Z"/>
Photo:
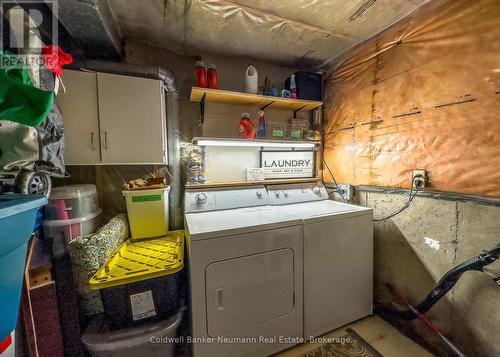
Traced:
<path fill-rule="evenodd" d="M 225 209 L 268 206 L 269 196 L 264 186 L 186 191 L 186 213 L 220 211 Z"/>

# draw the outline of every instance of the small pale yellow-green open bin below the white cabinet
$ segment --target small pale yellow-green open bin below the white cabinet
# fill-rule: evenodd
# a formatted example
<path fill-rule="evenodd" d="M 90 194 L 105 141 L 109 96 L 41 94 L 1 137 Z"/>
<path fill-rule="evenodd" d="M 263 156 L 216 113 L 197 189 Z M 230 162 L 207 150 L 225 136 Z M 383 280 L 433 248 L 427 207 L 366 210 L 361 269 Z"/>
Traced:
<path fill-rule="evenodd" d="M 123 191 L 132 238 L 163 237 L 168 232 L 170 187 Z"/>

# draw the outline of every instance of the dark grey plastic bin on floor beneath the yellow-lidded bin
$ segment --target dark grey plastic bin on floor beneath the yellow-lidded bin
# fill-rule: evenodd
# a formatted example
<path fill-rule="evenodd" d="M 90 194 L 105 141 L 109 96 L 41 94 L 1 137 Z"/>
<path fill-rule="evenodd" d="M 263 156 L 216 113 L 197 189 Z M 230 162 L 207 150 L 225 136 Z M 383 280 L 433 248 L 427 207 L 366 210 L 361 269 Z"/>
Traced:
<path fill-rule="evenodd" d="M 167 320 L 116 331 L 109 331 L 102 318 L 94 318 L 82 342 L 92 357 L 174 357 L 182 315 L 180 310 Z"/>

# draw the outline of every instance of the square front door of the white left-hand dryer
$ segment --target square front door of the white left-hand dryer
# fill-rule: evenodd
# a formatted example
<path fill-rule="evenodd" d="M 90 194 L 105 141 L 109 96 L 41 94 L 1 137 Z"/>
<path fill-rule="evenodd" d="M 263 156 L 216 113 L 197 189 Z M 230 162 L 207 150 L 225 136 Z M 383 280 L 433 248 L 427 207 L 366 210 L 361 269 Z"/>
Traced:
<path fill-rule="evenodd" d="M 291 249 L 215 262 L 207 267 L 205 276 L 211 337 L 237 334 L 293 310 Z"/>

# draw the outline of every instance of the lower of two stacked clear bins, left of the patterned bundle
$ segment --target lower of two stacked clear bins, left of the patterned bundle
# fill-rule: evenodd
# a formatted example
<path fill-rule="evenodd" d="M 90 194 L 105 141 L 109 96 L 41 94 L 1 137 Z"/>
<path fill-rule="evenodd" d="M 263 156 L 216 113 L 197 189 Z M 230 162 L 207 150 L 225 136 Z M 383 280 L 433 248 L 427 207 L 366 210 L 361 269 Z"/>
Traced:
<path fill-rule="evenodd" d="M 66 254 L 66 245 L 79 236 L 95 233 L 101 225 L 102 209 L 81 218 L 65 220 L 45 220 L 42 222 L 43 235 L 52 239 L 52 253 L 55 257 Z"/>

